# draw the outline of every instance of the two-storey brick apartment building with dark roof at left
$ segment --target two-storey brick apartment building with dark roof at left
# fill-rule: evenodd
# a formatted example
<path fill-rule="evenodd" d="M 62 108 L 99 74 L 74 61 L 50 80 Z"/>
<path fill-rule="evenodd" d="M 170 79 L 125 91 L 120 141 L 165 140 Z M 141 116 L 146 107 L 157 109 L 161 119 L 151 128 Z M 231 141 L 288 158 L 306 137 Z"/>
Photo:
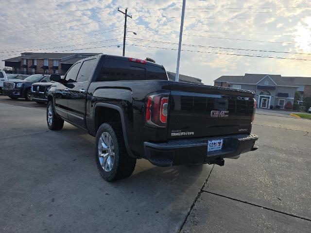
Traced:
<path fill-rule="evenodd" d="M 12 67 L 15 74 L 61 74 L 77 61 L 100 53 L 48 53 L 23 52 L 18 57 L 4 61 L 6 67 Z"/>

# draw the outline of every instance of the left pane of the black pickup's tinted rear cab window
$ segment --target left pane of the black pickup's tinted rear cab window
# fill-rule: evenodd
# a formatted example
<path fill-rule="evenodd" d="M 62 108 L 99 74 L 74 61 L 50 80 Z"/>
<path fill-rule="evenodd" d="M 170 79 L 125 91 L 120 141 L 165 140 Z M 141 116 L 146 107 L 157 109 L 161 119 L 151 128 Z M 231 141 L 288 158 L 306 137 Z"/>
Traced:
<path fill-rule="evenodd" d="M 96 81 L 121 81 L 128 79 L 129 62 L 117 59 L 106 59 Z"/>

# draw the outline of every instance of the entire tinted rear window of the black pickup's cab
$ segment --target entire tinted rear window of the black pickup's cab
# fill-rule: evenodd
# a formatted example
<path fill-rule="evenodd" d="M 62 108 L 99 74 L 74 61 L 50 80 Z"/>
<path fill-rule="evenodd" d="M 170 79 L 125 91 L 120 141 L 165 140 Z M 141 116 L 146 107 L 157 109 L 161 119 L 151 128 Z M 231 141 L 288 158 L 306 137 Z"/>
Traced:
<path fill-rule="evenodd" d="M 96 81 L 128 80 L 168 80 L 168 77 L 163 67 L 107 58 Z"/>

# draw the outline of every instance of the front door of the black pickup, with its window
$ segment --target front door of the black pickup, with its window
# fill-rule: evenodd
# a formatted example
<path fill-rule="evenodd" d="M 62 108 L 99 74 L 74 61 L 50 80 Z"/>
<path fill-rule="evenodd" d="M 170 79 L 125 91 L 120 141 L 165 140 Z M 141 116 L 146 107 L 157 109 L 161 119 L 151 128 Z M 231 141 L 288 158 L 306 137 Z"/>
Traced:
<path fill-rule="evenodd" d="M 59 83 L 55 90 L 55 111 L 59 116 L 68 119 L 68 92 L 69 88 L 76 82 L 81 62 L 74 64 L 66 73 L 64 82 Z"/>

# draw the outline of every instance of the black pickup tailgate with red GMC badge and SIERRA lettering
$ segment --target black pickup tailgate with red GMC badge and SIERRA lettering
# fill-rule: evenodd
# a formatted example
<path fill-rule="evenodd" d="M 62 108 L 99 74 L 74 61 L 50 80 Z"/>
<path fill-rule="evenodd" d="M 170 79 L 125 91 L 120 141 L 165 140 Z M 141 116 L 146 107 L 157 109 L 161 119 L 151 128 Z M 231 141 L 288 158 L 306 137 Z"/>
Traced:
<path fill-rule="evenodd" d="M 172 82 L 168 138 L 251 132 L 254 93 Z"/>

